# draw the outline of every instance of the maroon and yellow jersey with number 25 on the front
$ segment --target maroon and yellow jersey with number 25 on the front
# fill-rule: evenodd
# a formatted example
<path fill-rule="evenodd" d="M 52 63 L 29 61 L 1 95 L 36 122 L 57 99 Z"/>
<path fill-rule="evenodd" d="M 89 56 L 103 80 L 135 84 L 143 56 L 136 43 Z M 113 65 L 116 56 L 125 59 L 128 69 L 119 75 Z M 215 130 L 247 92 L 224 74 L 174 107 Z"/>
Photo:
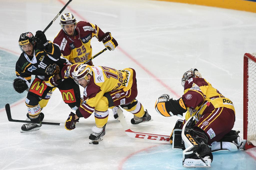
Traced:
<path fill-rule="evenodd" d="M 63 57 L 72 64 L 83 63 L 92 57 L 91 38 L 98 40 L 104 35 L 104 32 L 94 24 L 85 21 L 79 21 L 75 29 L 75 36 L 67 35 L 62 29 L 54 38 L 54 43 L 60 46 Z"/>

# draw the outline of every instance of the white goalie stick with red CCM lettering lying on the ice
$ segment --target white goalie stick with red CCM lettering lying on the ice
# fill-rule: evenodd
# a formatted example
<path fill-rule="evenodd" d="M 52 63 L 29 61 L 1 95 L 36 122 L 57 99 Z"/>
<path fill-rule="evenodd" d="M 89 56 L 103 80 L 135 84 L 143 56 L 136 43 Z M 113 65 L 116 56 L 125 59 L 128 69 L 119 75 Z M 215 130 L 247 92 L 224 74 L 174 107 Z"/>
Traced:
<path fill-rule="evenodd" d="M 126 133 L 126 135 L 128 135 L 131 138 L 140 138 L 140 139 L 151 139 L 151 140 L 160 140 L 160 141 L 165 141 L 165 142 L 169 142 L 169 138 L 170 136 L 166 136 L 166 135 L 156 135 L 156 134 L 150 134 L 150 133 L 142 133 L 142 132 L 134 132 L 132 131 L 124 118 L 124 114 L 122 112 L 117 112 L 118 113 L 118 117 L 119 117 L 119 121 L 124 129 L 124 132 Z"/>

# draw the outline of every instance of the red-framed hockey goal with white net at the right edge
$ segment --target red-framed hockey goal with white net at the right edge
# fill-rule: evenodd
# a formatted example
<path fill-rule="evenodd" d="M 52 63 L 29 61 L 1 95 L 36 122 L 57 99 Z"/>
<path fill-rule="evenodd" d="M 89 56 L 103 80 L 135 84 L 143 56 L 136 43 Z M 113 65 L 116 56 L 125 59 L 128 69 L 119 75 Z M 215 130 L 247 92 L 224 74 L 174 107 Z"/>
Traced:
<path fill-rule="evenodd" d="M 243 70 L 243 138 L 256 146 L 256 53 L 244 54 Z"/>

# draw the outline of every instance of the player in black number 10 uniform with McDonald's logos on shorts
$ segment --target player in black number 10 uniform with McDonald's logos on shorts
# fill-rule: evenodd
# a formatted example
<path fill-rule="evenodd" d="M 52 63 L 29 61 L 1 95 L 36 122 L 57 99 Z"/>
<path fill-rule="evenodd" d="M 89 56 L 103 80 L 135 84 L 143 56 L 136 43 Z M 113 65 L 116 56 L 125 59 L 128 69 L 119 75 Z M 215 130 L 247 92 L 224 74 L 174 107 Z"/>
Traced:
<path fill-rule="evenodd" d="M 48 41 L 42 31 L 36 32 L 35 40 L 31 32 L 23 33 L 19 37 L 19 47 L 23 52 L 16 62 L 17 78 L 13 81 L 13 88 L 18 93 L 23 93 L 29 88 L 25 100 L 27 117 L 32 122 L 39 122 L 44 118 L 39 101 L 54 87 L 59 88 L 64 102 L 73 110 L 78 109 L 82 101 L 79 85 L 70 79 L 62 82 L 60 70 L 70 63 L 61 57 L 59 47 Z M 31 75 L 36 76 L 30 85 Z M 38 130 L 40 127 L 41 124 L 27 123 L 22 125 L 21 132 Z"/>

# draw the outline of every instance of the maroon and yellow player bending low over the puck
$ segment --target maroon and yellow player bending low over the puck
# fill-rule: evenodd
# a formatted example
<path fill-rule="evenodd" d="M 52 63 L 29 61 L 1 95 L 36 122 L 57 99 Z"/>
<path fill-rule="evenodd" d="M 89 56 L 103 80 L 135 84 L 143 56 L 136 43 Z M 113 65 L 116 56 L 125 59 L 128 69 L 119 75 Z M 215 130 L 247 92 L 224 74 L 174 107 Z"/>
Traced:
<path fill-rule="evenodd" d="M 74 129 L 80 117 L 88 118 L 94 112 L 96 125 L 92 127 L 89 143 L 103 139 L 110 107 L 121 106 L 132 113 L 132 124 L 152 121 L 147 110 L 144 111 L 142 104 L 135 99 L 137 83 L 134 69 L 116 70 L 103 66 L 72 64 L 65 66 L 61 72 L 62 77 L 71 77 L 85 88 L 83 103 L 76 114 L 70 113 L 65 127 L 67 130 Z"/>

